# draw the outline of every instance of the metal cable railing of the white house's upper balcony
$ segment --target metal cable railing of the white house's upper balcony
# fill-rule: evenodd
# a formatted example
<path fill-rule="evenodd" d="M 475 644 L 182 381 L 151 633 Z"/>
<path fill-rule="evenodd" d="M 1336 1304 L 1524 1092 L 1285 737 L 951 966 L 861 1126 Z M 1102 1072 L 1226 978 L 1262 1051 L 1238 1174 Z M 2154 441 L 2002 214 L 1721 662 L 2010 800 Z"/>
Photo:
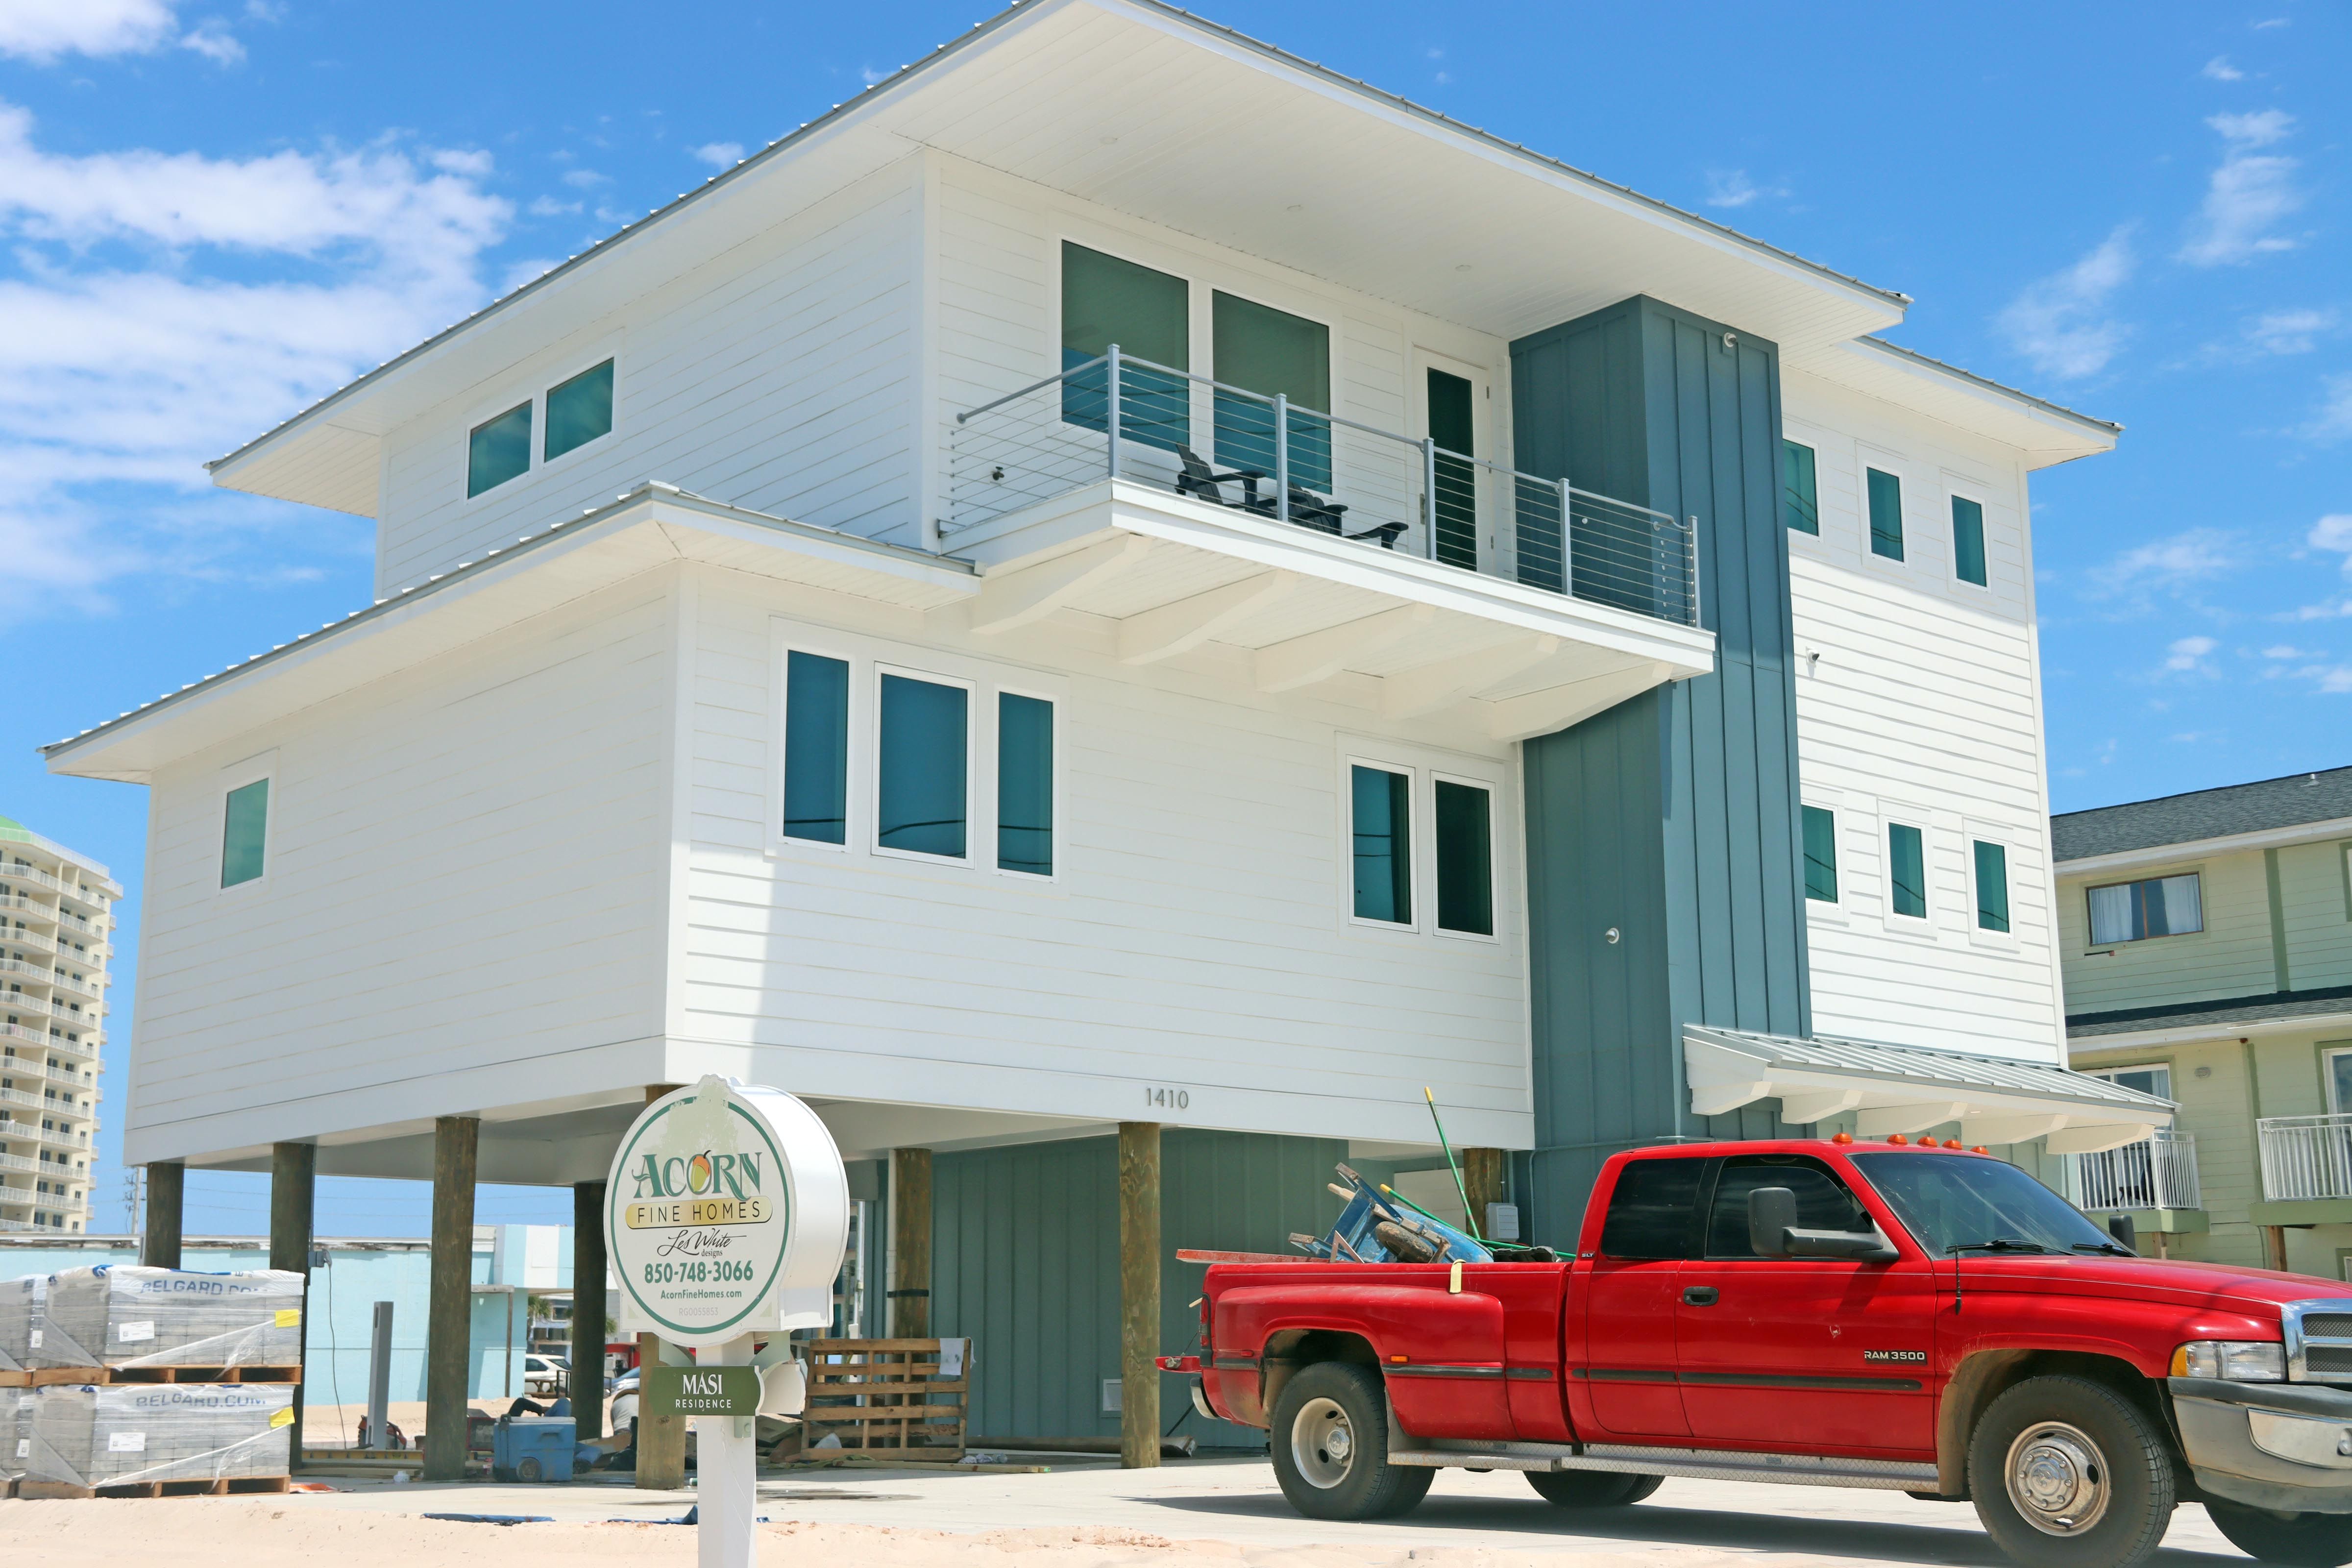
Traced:
<path fill-rule="evenodd" d="M 1117 346 L 955 416 L 941 531 L 1103 477 L 1698 625 L 1696 536 L 1679 517 Z"/>

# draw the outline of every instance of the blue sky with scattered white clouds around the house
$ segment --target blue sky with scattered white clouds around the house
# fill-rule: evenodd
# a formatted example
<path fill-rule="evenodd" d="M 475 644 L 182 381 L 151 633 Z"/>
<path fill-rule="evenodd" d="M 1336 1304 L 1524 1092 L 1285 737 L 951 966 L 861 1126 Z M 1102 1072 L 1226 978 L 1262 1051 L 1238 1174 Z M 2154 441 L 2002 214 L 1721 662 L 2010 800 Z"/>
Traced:
<path fill-rule="evenodd" d="M 1211 5 L 2122 421 L 2034 480 L 2058 809 L 2352 762 L 2345 7 Z M 0 0 L 0 813 L 134 889 L 96 1227 L 146 802 L 33 748 L 369 597 L 365 520 L 200 463 L 985 14 Z M 421 1187 L 322 1182 L 327 1232 L 423 1222 Z M 263 1225 L 259 1178 L 191 1178 L 191 1232 Z"/>

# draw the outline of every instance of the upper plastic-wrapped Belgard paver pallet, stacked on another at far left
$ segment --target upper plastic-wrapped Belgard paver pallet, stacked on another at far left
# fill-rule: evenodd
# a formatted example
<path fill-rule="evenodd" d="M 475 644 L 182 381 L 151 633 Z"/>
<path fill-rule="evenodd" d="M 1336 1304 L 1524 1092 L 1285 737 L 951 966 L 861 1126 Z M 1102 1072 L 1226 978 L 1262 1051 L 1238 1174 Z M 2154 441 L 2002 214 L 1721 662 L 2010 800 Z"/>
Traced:
<path fill-rule="evenodd" d="M 26 1366 L 294 1366 L 303 1276 L 129 1262 L 49 1276 Z"/>

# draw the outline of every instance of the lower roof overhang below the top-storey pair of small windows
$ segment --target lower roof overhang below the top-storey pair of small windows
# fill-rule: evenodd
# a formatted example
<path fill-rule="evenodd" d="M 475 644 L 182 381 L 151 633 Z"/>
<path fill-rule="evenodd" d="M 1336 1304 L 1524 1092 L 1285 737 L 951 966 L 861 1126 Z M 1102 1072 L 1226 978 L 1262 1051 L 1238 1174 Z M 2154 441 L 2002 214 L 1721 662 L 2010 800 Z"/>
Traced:
<path fill-rule="evenodd" d="M 181 686 L 71 741 L 52 773 L 148 783 L 207 745 L 341 696 L 666 562 L 706 562 L 929 611 L 978 592 L 971 562 L 640 484 L 604 508 Z"/>

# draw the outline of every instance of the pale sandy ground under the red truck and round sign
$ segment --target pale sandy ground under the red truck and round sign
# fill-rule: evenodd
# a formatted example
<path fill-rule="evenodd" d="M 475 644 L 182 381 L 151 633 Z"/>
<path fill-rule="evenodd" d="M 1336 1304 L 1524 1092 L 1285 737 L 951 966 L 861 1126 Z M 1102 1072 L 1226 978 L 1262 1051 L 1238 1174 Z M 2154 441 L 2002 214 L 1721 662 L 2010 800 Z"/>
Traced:
<path fill-rule="evenodd" d="M 287 1497 L 158 1502 L 0 1502 L 0 1561 L 92 1552 L 153 1554 L 174 1568 L 557 1568 L 694 1559 L 677 1519 L 684 1493 L 630 1486 L 393 1486 L 327 1481 Z M 536 1514 L 553 1523 L 445 1523 L 428 1512 Z M 1296 1516 L 1263 1460 L 1195 1460 L 1150 1472 L 1061 1465 L 1049 1474 L 762 1474 L 767 1563 L 880 1568 L 1860 1568 L 2006 1559 L 1966 1505 L 1903 1493 L 1668 1481 L 1649 1502 L 1571 1514 L 1512 1474 L 1444 1472 L 1406 1519 L 1319 1523 Z M 38 1554 L 38 1556 L 35 1556 Z M 2173 1516 L 2159 1568 L 2244 1563 L 2204 1509 Z"/>

